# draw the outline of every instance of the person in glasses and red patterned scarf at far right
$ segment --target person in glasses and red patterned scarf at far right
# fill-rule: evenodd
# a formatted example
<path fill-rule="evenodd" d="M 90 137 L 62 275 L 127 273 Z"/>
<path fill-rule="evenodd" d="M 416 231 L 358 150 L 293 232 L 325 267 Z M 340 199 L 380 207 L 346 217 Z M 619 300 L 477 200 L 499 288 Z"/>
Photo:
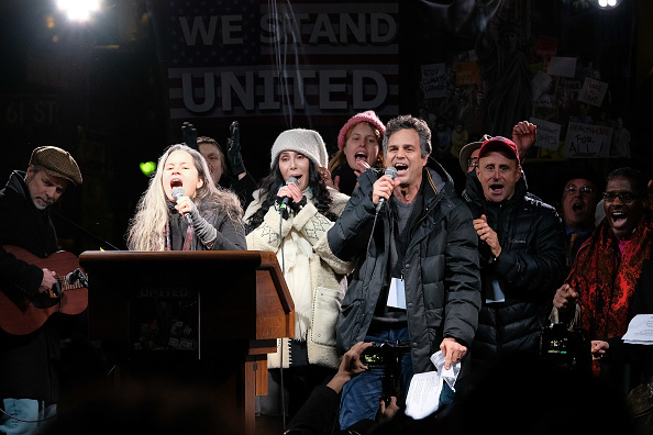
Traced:
<path fill-rule="evenodd" d="M 554 320 L 588 332 L 594 373 L 617 382 L 624 393 L 653 375 L 650 346 L 621 341 L 634 315 L 653 313 L 648 181 L 628 167 L 608 175 L 606 217 L 578 250 L 568 278 L 553 298 Z"/>

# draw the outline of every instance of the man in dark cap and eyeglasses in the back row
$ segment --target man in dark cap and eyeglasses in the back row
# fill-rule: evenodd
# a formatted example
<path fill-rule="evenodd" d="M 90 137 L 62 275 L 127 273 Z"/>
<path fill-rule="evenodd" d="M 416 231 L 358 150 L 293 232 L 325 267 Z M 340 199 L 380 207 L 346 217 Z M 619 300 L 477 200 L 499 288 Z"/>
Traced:
<path fill-rule="evenodd" d="M 565 177 L 561 214 L 567 238 L 567 267 L 572 267 L 583 242 L 594 231 L 594 215 L 598 201 L 598 181 L 589 169 L 571 170 Z"/>

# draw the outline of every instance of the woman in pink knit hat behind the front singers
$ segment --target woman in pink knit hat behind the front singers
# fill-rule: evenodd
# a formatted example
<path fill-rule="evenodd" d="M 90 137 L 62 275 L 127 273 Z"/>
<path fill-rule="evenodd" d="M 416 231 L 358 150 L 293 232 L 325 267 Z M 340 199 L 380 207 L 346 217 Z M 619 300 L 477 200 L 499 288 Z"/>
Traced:
<path fill-rule="evenodd" d="M 337 153 L 329 161 L 334 187 L 351 196 L 366 169 L 384 168 L 381 141 L 386 126 L 372 110 L 352 116 L 337 135 Z"/>

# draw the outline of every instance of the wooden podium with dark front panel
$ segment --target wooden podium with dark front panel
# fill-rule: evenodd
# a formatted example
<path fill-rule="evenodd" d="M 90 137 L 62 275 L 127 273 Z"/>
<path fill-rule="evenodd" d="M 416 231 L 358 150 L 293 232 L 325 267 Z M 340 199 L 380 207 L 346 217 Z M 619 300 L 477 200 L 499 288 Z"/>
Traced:
<path fill-rule="evenodd" d="M 121 376 L 137 379 L 156 368 L 210 382 L 230 419 L 254 435 L 255 395 L 267 393 L 267 354 L 295 332 L 292 299 L 274 253 L 85 252 L 79 263 L 89 281 L 89 338 L 122 348 Z M 151 325 L 151 306 L 169 312 L 171 326 Z M 151 338 L 159 333 L 163 343 Z"/>

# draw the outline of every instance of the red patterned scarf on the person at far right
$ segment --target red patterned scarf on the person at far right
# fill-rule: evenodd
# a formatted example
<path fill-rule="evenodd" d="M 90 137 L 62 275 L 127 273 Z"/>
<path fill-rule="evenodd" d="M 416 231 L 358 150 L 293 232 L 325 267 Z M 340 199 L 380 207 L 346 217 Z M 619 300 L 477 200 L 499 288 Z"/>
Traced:
<path fill-rule="evenodd" d="M 642 261 L 651 257 L 653 237 L 653 220 L 648 211 L 620 254 L 619 241 L 607 219 L 578 250 L 566 281 L 580 294 L 582 327 L 589 332 L 590 339 L 601 341 L 626 334 L 630 300 Z"/>

